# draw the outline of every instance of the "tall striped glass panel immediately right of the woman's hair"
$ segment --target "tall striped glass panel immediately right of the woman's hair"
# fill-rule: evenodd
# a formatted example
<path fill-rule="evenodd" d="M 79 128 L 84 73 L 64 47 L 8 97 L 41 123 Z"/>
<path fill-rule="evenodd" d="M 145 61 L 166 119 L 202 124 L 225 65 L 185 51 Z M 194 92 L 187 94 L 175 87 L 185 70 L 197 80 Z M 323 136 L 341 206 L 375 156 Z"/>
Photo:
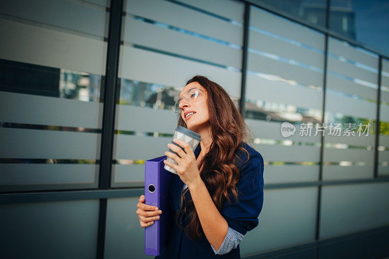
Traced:
<path fill-rule="evenodd" d="M 324 35 L 251 6 L 248 38 L 246 121 L 267 163 L 265 183 L 315 181 L 320 135 L 302 129 L 322 120 Z"/>

